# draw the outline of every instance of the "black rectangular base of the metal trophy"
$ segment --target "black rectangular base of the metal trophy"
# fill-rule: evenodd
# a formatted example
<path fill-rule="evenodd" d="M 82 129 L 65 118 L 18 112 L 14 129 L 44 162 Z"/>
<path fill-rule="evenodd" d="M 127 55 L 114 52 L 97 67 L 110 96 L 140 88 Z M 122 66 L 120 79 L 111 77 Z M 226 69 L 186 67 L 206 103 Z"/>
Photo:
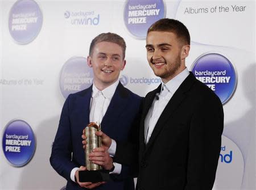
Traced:
<path fill-rule="evenodd" d="M 79 181 L 92 183 L 109 181 L 109 170 L 79 171 Z"/>

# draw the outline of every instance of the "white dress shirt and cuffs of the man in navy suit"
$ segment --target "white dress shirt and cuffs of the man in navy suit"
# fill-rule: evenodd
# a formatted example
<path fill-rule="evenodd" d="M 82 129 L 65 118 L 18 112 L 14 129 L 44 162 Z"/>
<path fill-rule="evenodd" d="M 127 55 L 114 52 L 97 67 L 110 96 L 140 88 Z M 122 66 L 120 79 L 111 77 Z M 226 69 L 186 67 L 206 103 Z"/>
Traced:
<path fill-rule="evenodd" d="M 114 95 L 115 90 L 117 89 L 119 81 L 117 80 L 109 87 L 106 87 L 104 90 L 100 91 L 98 88 L 94 85 L 92 87 L 92 98 L 90 99 L 90 115 L 89 115 L 89 121 L 100 124 L 108 107 L 110 104 L 110 101 Z M 114 140 L 113 140 L 114 141 Z M 116 149 L 116 142 L 112 142 L 111 146 L 109 147 L 109 154 L 110 156 L 114 157 L 113 150 Z M 72 181 L 75 181 L 75 173 L 79 170 L 78 167 L 73 168 L 70 174 L 70 178 Z M 115 163 L 115 168 L 110 174 L 120 174 L 122 170 L 122 165 L 119 163 Z"/>

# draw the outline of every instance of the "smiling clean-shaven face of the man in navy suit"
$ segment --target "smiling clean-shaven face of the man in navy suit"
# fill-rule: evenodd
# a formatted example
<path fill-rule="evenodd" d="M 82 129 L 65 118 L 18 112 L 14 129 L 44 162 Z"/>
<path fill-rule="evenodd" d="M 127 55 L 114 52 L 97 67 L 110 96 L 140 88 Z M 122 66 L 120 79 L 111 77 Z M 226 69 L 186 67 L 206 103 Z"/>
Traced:
<path fill-rule="evenodd" d="M 117 81 L 126 64 L 121 46 L 108 41 L 97 43 L 87 62 L 93 68 L 94 84 L 99 90 L 104 90 Z"/>

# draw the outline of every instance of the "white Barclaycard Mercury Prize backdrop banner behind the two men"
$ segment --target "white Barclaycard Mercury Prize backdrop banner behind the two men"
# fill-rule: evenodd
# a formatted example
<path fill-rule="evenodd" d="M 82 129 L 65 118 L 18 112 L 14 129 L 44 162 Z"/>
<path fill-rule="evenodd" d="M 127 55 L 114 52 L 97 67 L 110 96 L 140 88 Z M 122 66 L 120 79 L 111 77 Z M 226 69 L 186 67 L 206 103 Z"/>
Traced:
<path fill-rule="evenodd" d="M 144 96 L 160 83 L 146 31 L 174 18 L 191 33 L 186 60 L 224 106 L 214 189 L 255 189 L 255 1 L 1 1 L 1 187 L 65 189 L 49 164 L 65 98 L 93 82 L 90 41 L 127 43 L 122 84 Z"/>

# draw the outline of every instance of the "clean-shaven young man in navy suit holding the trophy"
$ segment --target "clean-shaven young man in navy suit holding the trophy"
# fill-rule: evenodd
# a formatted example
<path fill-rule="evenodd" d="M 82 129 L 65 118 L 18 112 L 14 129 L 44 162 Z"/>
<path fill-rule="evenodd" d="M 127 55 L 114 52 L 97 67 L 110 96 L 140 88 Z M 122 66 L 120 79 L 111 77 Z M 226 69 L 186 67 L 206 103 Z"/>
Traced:
<path fill-rule="evenodd" d="M 94 73 L 93 85 L 69 95 L 64 103 L 50 162 L 58 174 L 67 179 L 66 189 L 134 189 L 129 168 L 114 163 L 105 150 L 100 154 L 104 157 L 102 166 L 112 171 L 110 181 L 81 183 L 78 175 L 79 170 L 86 170 L 81 133 L 90 122 L 100 123 L 101 130 L 115 141 L 135 139 L 131 131 L 137 129 L 131 127 L 138 121 L 142 98 L 118 81 L 126 64 L 125 49 L 125 41 L 115 33 L 101 33 L 95 37 L 88 56 L 88 65 Z"/>

